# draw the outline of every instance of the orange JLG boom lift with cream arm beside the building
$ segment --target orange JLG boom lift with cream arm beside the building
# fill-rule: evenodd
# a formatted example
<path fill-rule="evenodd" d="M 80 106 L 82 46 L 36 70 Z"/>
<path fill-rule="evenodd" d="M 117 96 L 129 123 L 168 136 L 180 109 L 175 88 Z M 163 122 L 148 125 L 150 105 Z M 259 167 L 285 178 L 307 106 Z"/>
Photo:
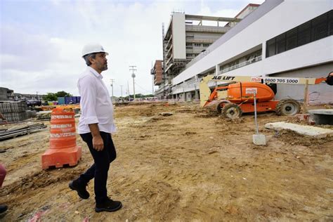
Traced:
<path fill-rule="evenodd" d="M 209 81 L 226 82 L 209 89 Z M 242 112 L 254 112 L 254 94 L 256 92 L 257 112 L 275 111 L 278 115 L 296 115 L 301 105 L 293 99 L 274 100 L 275 84 L 320 84 L 333 85 L 333 72 L 322 78 L 289 77 L 249 77 L 249 76 L 214 76 L 207 75 L 200 82 L 200 105 L 206 107 L 218 103 L 217 111 L 224 117 L 234 119 Z M 276 89 L 276 88 L 275 88 Z"/>

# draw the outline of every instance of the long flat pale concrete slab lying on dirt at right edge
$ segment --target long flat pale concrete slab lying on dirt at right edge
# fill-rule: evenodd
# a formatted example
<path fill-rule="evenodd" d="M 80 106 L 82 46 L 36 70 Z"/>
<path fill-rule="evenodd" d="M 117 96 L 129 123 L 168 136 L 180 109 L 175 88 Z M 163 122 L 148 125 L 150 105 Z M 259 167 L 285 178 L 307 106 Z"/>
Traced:
<path fill-rule="evenodd" d="M 296 133 L 306 135 L 306 136 L 313 136 L 315 138 L 325 138 L 327 136 L 333 136 L 332 129 L 324 129 L 317 126 L 303 126 L 299 124 L 291 124 L 288 122 L 273 122 L 265 124 L 267 129 L 275 129 L 275 130 L 282 130 L 282 129 L 289 129 L 291 131 L 295 131 Z"/>

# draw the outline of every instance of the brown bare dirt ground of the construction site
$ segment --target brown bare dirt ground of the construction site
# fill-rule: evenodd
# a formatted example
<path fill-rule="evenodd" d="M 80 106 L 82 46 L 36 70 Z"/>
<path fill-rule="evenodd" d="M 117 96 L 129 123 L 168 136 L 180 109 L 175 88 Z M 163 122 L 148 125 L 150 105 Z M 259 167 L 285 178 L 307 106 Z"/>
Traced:
<path fill-rule="evenodd" d="M 117 159 L 107 188 L 121 210 L 94 211 L 93 181 L 89 200 L 68 188 L 92 164 L 79 136 L 77 166 L 41 169 L 48 127 L 0 141 L 7 169 L 0 203 L 9 207 L 0 220 L 333 221 L 333 138 L 263 127 L 290 117 L 259 115 L 266 146 L 252 143 L 253 115 L 228 121 L 193 103 L 117 106 L 115 119 Z"/>

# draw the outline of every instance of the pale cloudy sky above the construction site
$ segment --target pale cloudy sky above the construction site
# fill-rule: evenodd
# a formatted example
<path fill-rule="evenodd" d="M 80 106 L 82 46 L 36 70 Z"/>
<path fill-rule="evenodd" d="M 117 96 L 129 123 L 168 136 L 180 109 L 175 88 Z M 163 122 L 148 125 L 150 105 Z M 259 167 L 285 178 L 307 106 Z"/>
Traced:
<path fill-rule="evenodd" d="M 15 93 L 67 91 L 78 95 L 77 78 L 86 69 L 81 48 L 98 42 L 110 53 L 105 83 L 114 95 L 133 93 L 129 65 L 136 65 L 136 93 L 152 93 L 150 69 L 162 59 L 162 22 L 172 11 L 235 17 L 263 0 L 112 1 L 1 0 L 0 86 Z M 156 89 L 156 86 L 155 86 Z"/>

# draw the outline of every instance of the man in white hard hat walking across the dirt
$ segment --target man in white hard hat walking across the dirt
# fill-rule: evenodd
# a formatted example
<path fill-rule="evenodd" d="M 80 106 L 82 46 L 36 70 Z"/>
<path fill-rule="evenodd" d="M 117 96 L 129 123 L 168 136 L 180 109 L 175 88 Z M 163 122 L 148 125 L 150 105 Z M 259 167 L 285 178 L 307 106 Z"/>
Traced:
<path fill-rule="evenodd" d="M 81 74 L 77 87 L 81 96 L 81 117 L 78 132 L 87 143 L 94 164 L 74 181 L 70 188 L 76 190 L 79 197 L 89 198 L 86 185 L 92 178 L 96 200 L 96 212 L 117 211 L 122 208 L 122 202 L 107 197 L 107 171 L 110 163 L 116 159 L 115 145 L 111 133 L 116 131 L 113 121 L 113 107 L 109 92 L 103 82 L 101 72 L 107 70 L 108 55 L 100 44 L 87 44 L 82 50 L 86 61 L 86 71 Z"/>

